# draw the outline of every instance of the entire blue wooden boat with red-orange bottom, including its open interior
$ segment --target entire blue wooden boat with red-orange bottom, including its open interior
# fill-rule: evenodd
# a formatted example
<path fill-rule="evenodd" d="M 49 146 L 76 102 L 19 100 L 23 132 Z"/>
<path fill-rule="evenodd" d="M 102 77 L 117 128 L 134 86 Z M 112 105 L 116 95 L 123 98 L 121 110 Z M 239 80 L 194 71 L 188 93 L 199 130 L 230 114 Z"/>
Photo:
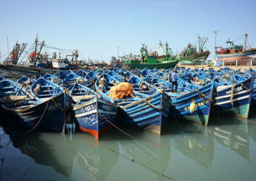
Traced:
<path fill-rule="evenodd" d="M 96 92 L 78 83 L 70 85 L 68 92 L 76 101 L 74 120 L 81 131 L 99 140 L 113 127 L 111 124 L 116 124 L 117 105 L 99 98 Z"/>

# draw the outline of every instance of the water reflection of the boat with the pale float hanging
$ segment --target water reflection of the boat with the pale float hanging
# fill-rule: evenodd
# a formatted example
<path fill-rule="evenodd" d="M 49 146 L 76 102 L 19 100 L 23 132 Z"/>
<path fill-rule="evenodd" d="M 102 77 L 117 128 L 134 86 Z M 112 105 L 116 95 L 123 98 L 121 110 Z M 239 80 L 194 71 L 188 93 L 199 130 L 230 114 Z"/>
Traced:
<path fill-rule="evenodd" d="M 214 158 L 214 140 L 208 127 L 193 123 L 172 123 L 171 145 L 184 156 L 210 170 Z"/>

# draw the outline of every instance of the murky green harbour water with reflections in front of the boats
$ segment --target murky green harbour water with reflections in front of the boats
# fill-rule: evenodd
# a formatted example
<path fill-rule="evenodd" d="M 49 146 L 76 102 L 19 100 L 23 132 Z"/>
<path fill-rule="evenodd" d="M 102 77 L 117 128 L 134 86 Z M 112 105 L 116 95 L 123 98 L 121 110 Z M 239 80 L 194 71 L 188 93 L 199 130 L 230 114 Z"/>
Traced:
<path fill-rule="evenodd" d="M 256 119 L 218 117 L 208 127 L 171 123 L 163 135 L 112 129 L 7 134 L 0 130 L 1 180 L 255 180 Z"/>

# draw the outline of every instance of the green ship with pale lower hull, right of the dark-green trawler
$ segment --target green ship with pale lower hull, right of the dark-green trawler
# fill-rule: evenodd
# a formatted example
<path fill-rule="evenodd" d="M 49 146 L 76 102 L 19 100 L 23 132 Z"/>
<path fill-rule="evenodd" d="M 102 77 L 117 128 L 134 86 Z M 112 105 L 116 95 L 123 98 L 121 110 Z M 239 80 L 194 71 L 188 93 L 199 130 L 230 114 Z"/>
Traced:
<path fill-rule="evenodd" d="M 202 65 L 211 52 L 205 49 L 205 43 L 208 38 L 200 38 L 198 36 L 198 52 L 196 50 L 196 45 L 188 46 L 177 56 L 179 65 Z"/>

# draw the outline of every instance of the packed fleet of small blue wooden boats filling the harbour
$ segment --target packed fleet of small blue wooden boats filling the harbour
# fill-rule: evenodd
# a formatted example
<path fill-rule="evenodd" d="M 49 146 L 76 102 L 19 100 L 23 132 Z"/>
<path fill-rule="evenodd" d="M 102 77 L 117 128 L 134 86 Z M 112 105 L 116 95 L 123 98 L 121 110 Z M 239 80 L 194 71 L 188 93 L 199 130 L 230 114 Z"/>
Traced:
<path fill-rule="evenodd" d="M 0 77 L 5 121 L 24 130 L 64 132 L 65 124 L 97 140 L 111 127 L 161 134 L 168 121 L 207 126 L 210 115 L 248 118 L 256 104 L 256 71 L 98 69 Z"/>

